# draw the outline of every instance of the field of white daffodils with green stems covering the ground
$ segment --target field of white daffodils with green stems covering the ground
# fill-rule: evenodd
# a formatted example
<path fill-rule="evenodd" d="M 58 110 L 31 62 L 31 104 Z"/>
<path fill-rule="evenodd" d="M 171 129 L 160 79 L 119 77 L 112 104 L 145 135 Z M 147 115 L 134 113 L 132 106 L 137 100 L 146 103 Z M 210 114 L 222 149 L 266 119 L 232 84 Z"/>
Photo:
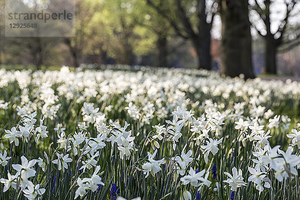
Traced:
<path fill-rule="evenodd" d="M 0 69 L 0 199 L 300 199 L 300 83 Z"/>

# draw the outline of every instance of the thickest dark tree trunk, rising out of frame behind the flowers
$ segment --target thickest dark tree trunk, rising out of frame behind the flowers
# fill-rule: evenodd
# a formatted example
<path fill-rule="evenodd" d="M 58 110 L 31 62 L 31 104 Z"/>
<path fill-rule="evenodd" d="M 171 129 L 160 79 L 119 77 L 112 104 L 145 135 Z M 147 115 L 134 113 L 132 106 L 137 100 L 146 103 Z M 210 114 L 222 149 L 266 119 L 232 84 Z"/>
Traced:
<path fill-rule="evenodd" d="M 222 40 L 221 73 L 253 78 L 251 34 L 247 0 L 220 0 Z"/>

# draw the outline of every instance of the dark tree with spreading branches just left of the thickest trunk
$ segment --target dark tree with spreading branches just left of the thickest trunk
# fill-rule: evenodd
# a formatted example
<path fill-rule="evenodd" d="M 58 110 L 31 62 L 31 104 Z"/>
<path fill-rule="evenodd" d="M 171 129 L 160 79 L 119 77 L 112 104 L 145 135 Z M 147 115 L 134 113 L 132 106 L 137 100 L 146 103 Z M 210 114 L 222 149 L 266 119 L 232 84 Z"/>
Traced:
<path fill-rule="evenodd" d="M 195 2 L 195 14 L 192 15 L 186 11 L 189 7 L 186 0 L 147 0 L 169 22 L 177 35 L 192 42 L 197 53 L 198 68 L 211 69 L 210 30 L 216 9 L 213 3 L 207 8 L 206 0 Z M 212 10 L 209 12 L 211 16 L 208 22 L 207 9 Z"/>

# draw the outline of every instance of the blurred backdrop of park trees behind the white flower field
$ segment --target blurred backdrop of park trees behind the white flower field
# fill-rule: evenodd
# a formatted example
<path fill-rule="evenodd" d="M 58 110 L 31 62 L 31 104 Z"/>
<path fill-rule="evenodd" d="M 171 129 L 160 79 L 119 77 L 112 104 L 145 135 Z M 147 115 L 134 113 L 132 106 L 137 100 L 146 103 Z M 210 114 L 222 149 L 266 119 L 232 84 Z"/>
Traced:
<path fill-rule="evenodd" d="M 76 0 L 75 37 L 5 37 L 0 63 L 300 75 L 300 0 Z"/>

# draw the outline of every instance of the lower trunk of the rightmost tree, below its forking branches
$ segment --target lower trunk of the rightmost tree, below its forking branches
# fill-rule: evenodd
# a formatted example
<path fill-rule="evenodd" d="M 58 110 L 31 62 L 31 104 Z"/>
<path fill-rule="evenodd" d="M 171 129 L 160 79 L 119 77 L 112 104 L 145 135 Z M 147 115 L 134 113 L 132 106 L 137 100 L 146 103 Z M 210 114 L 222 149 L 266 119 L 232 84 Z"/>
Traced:
<path fill-rule="evenodd" d="M 266 73 L 276 74 L 276 40 L 265 38 L 264 66 Z"/>

